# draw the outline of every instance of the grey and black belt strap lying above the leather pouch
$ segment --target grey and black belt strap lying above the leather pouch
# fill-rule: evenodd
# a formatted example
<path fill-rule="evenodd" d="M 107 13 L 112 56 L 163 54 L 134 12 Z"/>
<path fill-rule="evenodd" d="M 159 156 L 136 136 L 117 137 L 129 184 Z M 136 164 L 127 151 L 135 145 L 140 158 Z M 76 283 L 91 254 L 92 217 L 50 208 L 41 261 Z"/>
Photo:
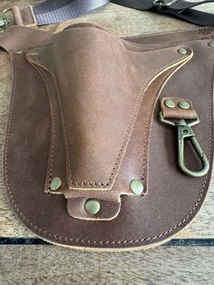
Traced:
<path fill-rule="evenodd" d="M 196 2 L 184 0 L 44 0 L 28 7 L 15 5 L 12 10 L 17 25 L 49 25 L 86 14 L 108 2 L 143 11 L 150 10 L 173 15 L 196 25 L 214 25 L 213 14 L 193 9 L 195 6 L 213 3 L 214 0 Z M 6 24 L 6 16 L 4 20 Z"/>

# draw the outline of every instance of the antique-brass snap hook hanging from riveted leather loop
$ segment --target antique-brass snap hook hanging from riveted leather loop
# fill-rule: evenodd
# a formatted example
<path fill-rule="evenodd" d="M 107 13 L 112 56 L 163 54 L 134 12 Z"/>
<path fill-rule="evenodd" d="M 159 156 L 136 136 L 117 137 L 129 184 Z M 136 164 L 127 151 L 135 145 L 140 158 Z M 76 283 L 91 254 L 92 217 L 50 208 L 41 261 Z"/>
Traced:
<path fill-rule="evenodd" d="M 169 121 L 163 118 L 160 112 L 160 122 L 170 124 L 173 127 L 178 128 L 178 162 L 182 172 L 190 175 L 192 177 L 202 177 L 209 172 L 209 161 L 206 154 L 203 152 L 198 140 L 196 139 L 195 133 L 193 133 L 191 126 L 199 123 L 199 117 L 189 123 L 185 120 L 180 120 L 178 122 Z M 202 168 L 199 171 L 191 171 L 188 169 L 184 162 L 184 146 L 185 141 L 190 140 L 190 143 L 194 147 L 195 151 L 199 155 L 199 159 L 202 163 Z"/>

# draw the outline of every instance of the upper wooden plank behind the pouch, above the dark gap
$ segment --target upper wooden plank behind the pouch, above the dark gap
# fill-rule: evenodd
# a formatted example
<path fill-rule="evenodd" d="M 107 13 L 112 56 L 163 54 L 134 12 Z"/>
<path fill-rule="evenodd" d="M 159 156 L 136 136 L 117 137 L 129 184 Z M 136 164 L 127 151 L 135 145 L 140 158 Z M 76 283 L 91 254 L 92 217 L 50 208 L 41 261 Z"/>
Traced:
<path fill-rule="evenodd" d="M 2 5 L 11 5 L 16 3 L 26 5 L 37 2 L 28 0 L 19 1 L 1 1 Z M 214 12 L 214 7 L 209 6 Z M 176 29 L 189 28 L 190 24 L 176 20 L 164 15 L 146 13 L 136 11 L 119 5 L 105 5 L 96 11 L 83 15 L 68 21 L 65 24 L 49 25 L 43 27 L 46 30 L 58 32 L 63 30 L 65 26 L 78 22 L 89 22 L 111 30 L 114 34 L 120 36 L 147 34 L 162 31 L 172 31 Z M 11 94 L 12 73 L 9 56 L 5 52 L 0 52 L 0 236 L 3 237 L 34 237 L 27 231 L 23 225 L 17 220 L 13 212 L 10 210 L 8 202 L 5 198 L 5 186 L 2 175 L 2 153 L 3 141 L 5 135 L 6 115 L 9 108 L 9 98 Z M 176 236 L 176 238 L 214 238 L 214 176 L 209 187 L 207 201 L 198 217 L 190 224 L 190 226 Z"/>

